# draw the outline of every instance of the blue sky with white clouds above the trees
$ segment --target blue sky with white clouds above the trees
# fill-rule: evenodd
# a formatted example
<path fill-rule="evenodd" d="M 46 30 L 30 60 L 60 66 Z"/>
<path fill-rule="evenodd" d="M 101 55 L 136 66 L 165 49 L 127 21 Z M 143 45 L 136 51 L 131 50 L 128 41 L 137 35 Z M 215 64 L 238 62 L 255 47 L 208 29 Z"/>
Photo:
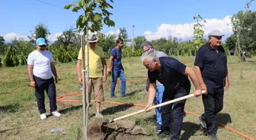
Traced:
<path fill-rule="evenodd" d="M 75 27 L 75 21 L 80 13 L 74 13 L 63 7 L 76 0 L 2 0 L 0 2 L 0 36 L 9 41 L 24 37 L 34 30 L 34 26 L 42 22 L 50 29 L 50 39 L 54 40 L 69 26 Z M 193 36 L 194 15 L 200 14 L 207 19 L 204 30 L 219 29 L 227 36 L 232 33 L 230 19 L 227 16 L 245 9 L 245 0 L 114 0 L 110 18 L 115 27 L 104 26 L 102 33 L 117 33 L 120 27 L 125 27 L 132 37 L 146 35 L 147 39 L 157 39 L 167 36 L 187 38 Z M 48 5 L 48 4 L 51 5 Z M 53 6 L 55 5 L 55 6 Z M 255 10 L 254 3 L 251 10 Z"/>

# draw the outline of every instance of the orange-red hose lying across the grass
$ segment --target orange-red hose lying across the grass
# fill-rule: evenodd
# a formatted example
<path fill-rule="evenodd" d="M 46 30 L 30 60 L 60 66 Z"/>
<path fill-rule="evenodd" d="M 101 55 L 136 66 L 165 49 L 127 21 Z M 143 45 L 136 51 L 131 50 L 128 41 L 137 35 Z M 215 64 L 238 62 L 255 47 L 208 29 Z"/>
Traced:
<path fill-rule="evenodd" d="M 130 81 L 131 83 L 133 82 L 142 82 L 142 81 L 145 81 L 146 79 L 139 79 L 139 80 L 134 80 L 134 81 Z M 118 82 L 117 85 L 120 85 L 121 82 Z M 104 89 L 110 89 L 110 86 L 107 86 L 105 87 Z M 65 94 L 65 95 L 60 95 L 59 97 L 56 97 L 56 101 L 59 101 L 59 102 L 82 102 L 82 100 L 61 100 L 60 98 L 64 98 L 64 97 L 69 97 L 69 96 L 72 96 L 72 95 L 79 95 L 81 94 L 82 92 L 75 92 L 75 93 L 69 93 L 69 94 Z M 91 102 L 94 102 L 94 100 L 91 100 Z M 136 107 L 146 107 L 146 104 L 133 104 L 133 103 L 120 103 L 120 102 L 115 102 L 115 101 L 104 101 L 105 103 L 109 103 L 109 104 L 119 104 L 119 105 L 130 105 L 130 106 L 136 106 Z M 200 115 L 198 114 L 195 114 L 193 112 L 188 112 L 188 111 L 184 111 L 186 114 L 190 114 L 190 115 L 194 115 L 196 117 L 199 117 Z M 226 126 L 222 123 L 219 123 L 219 126 L 222 126 L 223 128 L 225 129 L 228 129 L 229 131 L 231 132 L 235 132 L 236 134 L 238 135 L 241 135 L 243 136 L 244 138 L 247 138 L 248 140 L 255 140 L 254 138 L 251 138 L 250 136 L 248 135 L 245 135 L 243 134 L 242 132 L 238 132 L 237 130 L 235 129 L 232 129 L 231 127 L 229 126 Z"/>

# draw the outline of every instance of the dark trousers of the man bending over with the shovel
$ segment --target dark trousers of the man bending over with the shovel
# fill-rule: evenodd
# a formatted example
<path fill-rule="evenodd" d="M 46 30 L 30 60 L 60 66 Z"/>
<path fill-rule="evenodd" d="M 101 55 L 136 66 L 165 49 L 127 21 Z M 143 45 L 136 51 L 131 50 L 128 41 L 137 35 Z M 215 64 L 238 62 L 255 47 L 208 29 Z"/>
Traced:
<path fill-rule="evenodd" d="M 171 101 L 175 98 L 181 98 L 190 93 L 190 82 L 187 82 L 186 87 L 180 87 L 178 89 L 166 90 L 163 95 L 162 102 Z M 171 125 L 171 107 L 173 106 L 173 126 L 171 140 L 177 140 L 180 138 L 184 106 L 186 100 L 174 102 L 174 104 L 168 104 L 161 107 L 162 110 L 162 132 L 170 132 Z"/>

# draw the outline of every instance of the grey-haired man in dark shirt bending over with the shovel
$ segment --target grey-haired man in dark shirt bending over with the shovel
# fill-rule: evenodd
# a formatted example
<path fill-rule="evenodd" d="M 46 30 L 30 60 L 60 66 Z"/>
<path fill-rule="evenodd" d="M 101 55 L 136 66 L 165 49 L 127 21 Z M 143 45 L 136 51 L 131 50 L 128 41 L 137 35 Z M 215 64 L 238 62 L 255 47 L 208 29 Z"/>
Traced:
<path fill-rule="evenodd" d="M 201 95 L 200 82 L 193 70 L 182 64 L 180 61 L 170 58 L 155 56 L 154 51 L 146 51 L 142 54 L 141 61 L 146 69 L 148 69 L 149 76 L 149 101 L 146 105 L 146 111 L 150 111 L 152 103 L 155 98 L 156 80 L 161 82 L 165 86 L 165 92 L 163 94 L 162 102 L 171 101 L 175 98 L 181 98 L 189 95 L 190 93 L 190 79 L 194 83 L 195 96 Z M 174 104 L 168 104 L 162 106 L 162 128 L 159 136 L 162 138 L 168 137 L 170 134 L 171 124 L 171 107 L 173 107 L 173 126 L 171 140 L 180 138 L 181 128 L 183 122 L 183 113 L 186 100 L 174 102 Z"/>

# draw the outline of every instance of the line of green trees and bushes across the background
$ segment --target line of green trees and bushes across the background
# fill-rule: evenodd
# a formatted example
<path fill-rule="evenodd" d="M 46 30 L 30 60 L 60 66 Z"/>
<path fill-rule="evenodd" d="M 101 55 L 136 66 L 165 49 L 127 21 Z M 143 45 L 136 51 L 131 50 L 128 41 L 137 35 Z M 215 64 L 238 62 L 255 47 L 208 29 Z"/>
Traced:
<path fill-rule="evenodd" d="M 168 39 L 160 38 L 152 40 L 152 45 L 159 50 L 164 51 L 168 55 L 194 56 L 197 49 L 207 42 L 203 39 L 203 17 L 198 14 L 194 17 L 194 36 L 191 40 L 181 42 L 175 36 L 169 36 Z M 226 49 L 226 54 L 233 50 L 237 54 L 246 55 L 250 58 L 256 53 L 256 11 L 238 11 L 232 16 L 232 36 L 222 43 Z M 241 24 L 243 23 L 243 26 Z M 131 39 L 128 36 L 125 28 L 120 28 L 118 34 L 104 34 L 97 32 L 97 45 L 101 46 L 105 52 L 105 57 L 110 57 L 110 50 L 116 45 L 116 40 L 121 38 L 124 40 L 123 57 L 136 57 L 142 54 L 140 45 L 146 40 L 145 36 L 136 36 L 134 38 L 134 51 L 131 45 Z M 240 31 L 241 30 L 241 31 Z M 238 35 L 239 46 L 238 49 Z M 0 36 L 0 66 L 4 64 L 6 67 L 14 67 L 27 63 L 27 56 L 31 51 L 36 49 L 35 40 L 38 37 L 43 37 L 49 43 L 47 49 L 53 53 L 54 60 L 59 63 L 68 63 L 77 60 L 78 51 L 81 48 L 80 36 L 75 28 L 70 27 L 69 30 L 62 32 L 62 35 L 57 37 L 55 42 L 50 42 L 47 37 L 50 36 L 50 30 L 43 23 L 39 23 L 34 27 L 34 32 L 27 36 L 29 41 L 24 39 L 14 39 L 11 43 L 6 43 L 3 36 Z M 2 59 L 1 59 L 2 58 Z"/>

